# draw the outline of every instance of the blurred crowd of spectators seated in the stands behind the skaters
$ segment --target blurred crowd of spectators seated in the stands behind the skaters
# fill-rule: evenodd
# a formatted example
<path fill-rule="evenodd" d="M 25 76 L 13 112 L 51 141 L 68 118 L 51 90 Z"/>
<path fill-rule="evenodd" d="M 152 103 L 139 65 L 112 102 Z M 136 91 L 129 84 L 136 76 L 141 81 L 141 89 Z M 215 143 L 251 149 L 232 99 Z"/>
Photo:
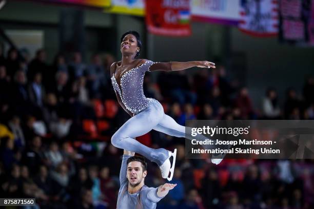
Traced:
<path fill-rule="evenodd" d="M 109 68 L 115 58 L 45 50 L 32 60 L 0 49 L 0 193 L 35 197 L 41 208 L 115 208 L 122 151 L 110 138 L 128 115 L 117 106 Z M 266 90 L 261 108 L 249 89 L 215 70 L 159 72 L 144 78 L 144 94 L 162 102 L 184 126 L 188 119 L 314 119 L 314 78 L 302 95 L 287 89 L 281 106 Z M 178 149 L 173 183 L 158 208 L 312 208 L 313 161 L 185 159 L 184 140 L 152 131 L 137 138 L 153 148 Z M 165 183 L 149 163 L 146 185 Z"/>

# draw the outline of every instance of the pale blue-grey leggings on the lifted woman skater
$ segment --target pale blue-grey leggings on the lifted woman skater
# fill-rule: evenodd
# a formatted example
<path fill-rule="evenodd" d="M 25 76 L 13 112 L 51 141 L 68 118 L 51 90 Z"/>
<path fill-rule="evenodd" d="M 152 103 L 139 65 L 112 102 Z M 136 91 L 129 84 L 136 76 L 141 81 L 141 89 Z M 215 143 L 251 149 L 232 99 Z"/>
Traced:
<path fill-rule="evenodd" d="M 149 148 L 134 139 L 148 133 L 152 129 L 175 137 L 185 137 L 185 127 L 176 123 L 169 115 L 166 115 L 161 103 L 155 100 L 142 112 L 126 121 L 113 134 L 111 143 L 114 147 L 143 155 L 160 166 L 168 159 L 168 151 L 163 148 Z M 203 137 L 201 140 L 205 139 L 206 137 Z"/>

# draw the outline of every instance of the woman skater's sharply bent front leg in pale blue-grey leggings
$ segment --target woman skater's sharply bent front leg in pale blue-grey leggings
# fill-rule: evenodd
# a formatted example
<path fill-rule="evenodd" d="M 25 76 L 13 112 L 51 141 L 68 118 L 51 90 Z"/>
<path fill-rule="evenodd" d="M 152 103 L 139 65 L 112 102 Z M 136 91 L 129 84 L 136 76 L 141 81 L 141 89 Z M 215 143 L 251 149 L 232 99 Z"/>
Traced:
<path fill-rule="evenodd" d="M 152 130 L 163 118 L 161 105 L 151 105 L 139 114 L 131 117 L 111 137 L 114 147 L 139 153 L 150 161 L 161 166 L 168 158 L 169 152 L 165 149 L 146 147 L 134 138 L 142 136 Z"/>

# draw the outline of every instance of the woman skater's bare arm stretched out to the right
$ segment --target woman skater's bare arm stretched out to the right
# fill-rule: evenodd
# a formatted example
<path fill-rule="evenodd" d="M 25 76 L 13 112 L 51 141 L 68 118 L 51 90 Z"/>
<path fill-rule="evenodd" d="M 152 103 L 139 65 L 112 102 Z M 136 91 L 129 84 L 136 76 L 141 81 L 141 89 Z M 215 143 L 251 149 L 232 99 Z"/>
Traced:
<path fill-rule="evenodd" d="M 170 61 L 170 62 L 156 62 L 149 71 L 179 71 L 192 67 L 199 68 L 215 68 L 215 64 L 210 61 Z"/>

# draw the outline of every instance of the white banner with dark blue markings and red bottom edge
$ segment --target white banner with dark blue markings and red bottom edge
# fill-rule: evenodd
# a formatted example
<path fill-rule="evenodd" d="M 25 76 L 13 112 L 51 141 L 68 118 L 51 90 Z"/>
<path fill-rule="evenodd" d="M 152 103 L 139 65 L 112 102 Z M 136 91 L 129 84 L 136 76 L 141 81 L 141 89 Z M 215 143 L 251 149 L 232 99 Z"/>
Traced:
<path fill-rule="evenodd" d="M 277 0 L 242 0 L 239 29 L 247 34 L 259 37 L 278 34 Z"/>

